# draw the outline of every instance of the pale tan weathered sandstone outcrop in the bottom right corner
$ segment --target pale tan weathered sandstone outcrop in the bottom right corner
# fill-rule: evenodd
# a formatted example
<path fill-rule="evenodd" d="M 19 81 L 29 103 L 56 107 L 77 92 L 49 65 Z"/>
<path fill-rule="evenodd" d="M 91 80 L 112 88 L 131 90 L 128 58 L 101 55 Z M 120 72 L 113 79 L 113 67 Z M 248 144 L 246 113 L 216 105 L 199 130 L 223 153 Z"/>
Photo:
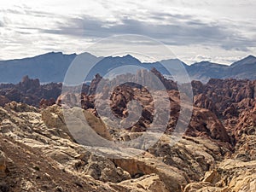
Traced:
<path fill-rule="evenodd" d="M 255 189 L 255 161 L 224 160 L 218 170 L 207 172 L 200 183 L 189 183 L 184 191 L 253 192 Z"/>

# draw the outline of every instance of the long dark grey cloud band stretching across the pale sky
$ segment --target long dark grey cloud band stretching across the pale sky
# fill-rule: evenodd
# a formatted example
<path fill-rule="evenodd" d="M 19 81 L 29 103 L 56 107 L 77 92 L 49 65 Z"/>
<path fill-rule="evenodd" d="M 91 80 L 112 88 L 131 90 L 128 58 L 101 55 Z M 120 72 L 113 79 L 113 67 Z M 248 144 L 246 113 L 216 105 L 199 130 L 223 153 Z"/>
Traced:
<path fill-rule="evenodd" d="M 56 29 L 40 32 L 86 38 L 107 38 L 120 34 L 138 34 L 160 40 L 168 45 L 205 44 L 218 45 L 223 49 L 247 51 L 252 39 L 245 37 L 236 28 L 218 22 L 206 22 L 193 15 L 151 13 L 147 19 L 131 17 L 119 21 L 100 20 L 88 15 L 68 19 Z"/>

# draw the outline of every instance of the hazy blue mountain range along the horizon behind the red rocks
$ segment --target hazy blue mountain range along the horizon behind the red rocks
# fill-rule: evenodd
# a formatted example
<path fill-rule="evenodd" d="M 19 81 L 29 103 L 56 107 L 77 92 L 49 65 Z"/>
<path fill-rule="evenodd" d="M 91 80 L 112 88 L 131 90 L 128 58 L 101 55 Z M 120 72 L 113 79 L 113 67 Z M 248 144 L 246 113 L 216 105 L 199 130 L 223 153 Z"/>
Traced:
<path fill-rule="evenodd" d="M 44 84 L 63 82 L 67 69 L 76 56 L 76 54 L 65 55 L 61 52 L 50 52 L 31 58 L 0 61 L 0 83 L 16 84 L 26 75 L 32 79 L 39 79 Z M 200 80 L 203 83 L 207 83 L 209 79 L 256 79 L 256 57 L 253 55 L 248 55 L 246 58 L 236 61 L 230 66 L 209 61 L 187 65 L 178 59 L 145 63 L 131 55 L 96 57 L 95 55 L 84 53 L 84 58 L 98 61 L 96 67 L 92 68 L 87 77 L 88 80 L 93 79 L 96 73 L 104 75 L 110 73 L 114 68 L 114 73 L 123 73 L 124 68 L 116 67 L 125 67 L 127 65 L 145 67 L 149 70 L 154 67 L 160 73 L 170 75 L 161 63 L 166 64 L 173 70 L 175 70 L 174 68 L 177 63 L 182 63 L 191 80 Z"/>

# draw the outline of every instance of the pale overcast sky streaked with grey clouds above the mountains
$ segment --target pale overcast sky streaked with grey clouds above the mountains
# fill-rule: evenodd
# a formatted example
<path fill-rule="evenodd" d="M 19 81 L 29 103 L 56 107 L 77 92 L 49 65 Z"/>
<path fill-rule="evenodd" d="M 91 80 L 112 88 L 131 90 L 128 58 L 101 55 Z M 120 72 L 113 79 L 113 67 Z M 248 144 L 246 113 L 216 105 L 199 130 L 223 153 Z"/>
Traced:
<path fill-rule="evenodd" d="M 133 34 L 160 42 L 187 64 L 231 64 L 256 55 L 255 10 L 256 0 L 1 0 L 0 60 L 79 54 L 102 38 Z M 122 46 L 158 49 L 137 38 L 102 46 L 97 55 Z"/>

